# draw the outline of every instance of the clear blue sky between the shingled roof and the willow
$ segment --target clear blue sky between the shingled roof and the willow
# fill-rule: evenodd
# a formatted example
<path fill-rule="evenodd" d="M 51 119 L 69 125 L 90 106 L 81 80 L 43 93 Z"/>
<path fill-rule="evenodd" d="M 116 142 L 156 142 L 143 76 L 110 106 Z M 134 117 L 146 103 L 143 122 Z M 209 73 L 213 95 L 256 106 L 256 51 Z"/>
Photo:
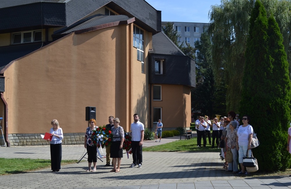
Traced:
<path fill-rule="evenodd" d="M 164 22 L 208 23 L 211 5 L 220 5 L 220 0 L 145 0 L 156 10 L 162 11 Z"/>

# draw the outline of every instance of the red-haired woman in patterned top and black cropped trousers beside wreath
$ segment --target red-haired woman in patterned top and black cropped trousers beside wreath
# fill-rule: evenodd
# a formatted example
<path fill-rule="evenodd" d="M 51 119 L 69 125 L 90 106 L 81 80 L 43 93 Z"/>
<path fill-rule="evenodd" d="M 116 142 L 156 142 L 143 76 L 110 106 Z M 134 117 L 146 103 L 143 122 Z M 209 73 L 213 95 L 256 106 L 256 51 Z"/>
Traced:
<path fill-rule="evenodd" d="M 95 172 L 96 171 L 96 162 L 97 162 L 97 148 L 94 146 L 93 141 L 92 141 L 92 133 L 93 130 L 97 129 L 96 126 L 96 120 L 91 119 L 89 120 L 90 126 L 86 129 L 85 133 L 85 142 L 84 142 L 84 147 L 87 149 L 87 154 L 88 154 L 88 167 L 89 169 L 86 170 L 87 172 Z M 93 170 L 91 169 L 91 165 L 93 162 Z"/>

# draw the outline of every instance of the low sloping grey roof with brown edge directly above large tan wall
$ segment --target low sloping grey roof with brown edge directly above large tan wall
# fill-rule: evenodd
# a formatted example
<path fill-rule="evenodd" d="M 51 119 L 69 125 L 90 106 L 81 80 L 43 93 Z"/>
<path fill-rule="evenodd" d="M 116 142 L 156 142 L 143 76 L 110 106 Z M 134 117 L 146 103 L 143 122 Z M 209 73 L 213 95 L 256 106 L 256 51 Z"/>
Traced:
<path fill-rule="evenodd" d="M 88 28 L 93 28 L 95 26 L 99 26 L 98 28 L 104 28 L 106 26 L 103 25 L 107 25 L 107 27 L 109 26 L 113 26 L 118 24 L 120 21 L 128 21 L 130 18 L 128 18 L 125 15 L 115 15 L 115 16 L 96 16 L 96 17 L 91 17 L 90 19 L 87 19 L 85 22 L 81 22 L 81 24 L 79 25 L 74 25 L 74 26 L 69 26 L 68 28 L 66 28 L 65 30 L 61 29 L 61 32 L 56 31 L 56 33 L 54 35 L 58 35 L 58 34 L 66 34 L 66 33 L 72 33 L 74 31 L 80 31 L 78 33 L 82 33 L 85 31 L 88 31 Z M 134 21 L 134 19 L 133 19 Z M 115 22 L 116 24 L 113 24 L 113 22 Z M 112 24 L 109 24 L 112 23 Z M 127 22 L 126 22 L 127 23 Z M 95 27 L 97 29 L 97 27 Z M 90 29 L 89 31 L 92 31 L 94 29 Z"/>

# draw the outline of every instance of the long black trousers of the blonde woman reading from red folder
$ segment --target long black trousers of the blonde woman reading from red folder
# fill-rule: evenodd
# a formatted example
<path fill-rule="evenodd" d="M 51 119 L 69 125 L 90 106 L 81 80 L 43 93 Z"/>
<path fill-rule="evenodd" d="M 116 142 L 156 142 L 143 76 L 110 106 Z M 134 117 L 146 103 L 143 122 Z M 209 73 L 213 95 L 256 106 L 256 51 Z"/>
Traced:
<path fill-rule="evenodd" d="M 50 144 L 50 149 L 52 170 L 60 170 L 62 161 L 62 143 Z"/>

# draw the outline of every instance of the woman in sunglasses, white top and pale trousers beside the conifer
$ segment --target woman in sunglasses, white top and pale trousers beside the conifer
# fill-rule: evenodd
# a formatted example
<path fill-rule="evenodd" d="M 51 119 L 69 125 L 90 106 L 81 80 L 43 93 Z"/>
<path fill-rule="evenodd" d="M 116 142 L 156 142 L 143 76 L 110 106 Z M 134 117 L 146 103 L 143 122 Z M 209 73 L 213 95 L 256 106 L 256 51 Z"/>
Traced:
<path fill-rule="evenodd" d="M 242 167 L 242 171 L 237 173 L 238 175 L 241 174 L 248 174 L 245 171 L 245 167 L 242 166 L 243 158 L 248 153 L 248 157 L 251 156 L 251 142 L 253 138 L 253 127 L 249 124 L 250 118 L 247 115 L 242 117 L 243 125 L 239 126 L 237 129 L 237 139 L 236 139 L 236 147 L 238 150 L 238 161 L 240 166 Z"/>

